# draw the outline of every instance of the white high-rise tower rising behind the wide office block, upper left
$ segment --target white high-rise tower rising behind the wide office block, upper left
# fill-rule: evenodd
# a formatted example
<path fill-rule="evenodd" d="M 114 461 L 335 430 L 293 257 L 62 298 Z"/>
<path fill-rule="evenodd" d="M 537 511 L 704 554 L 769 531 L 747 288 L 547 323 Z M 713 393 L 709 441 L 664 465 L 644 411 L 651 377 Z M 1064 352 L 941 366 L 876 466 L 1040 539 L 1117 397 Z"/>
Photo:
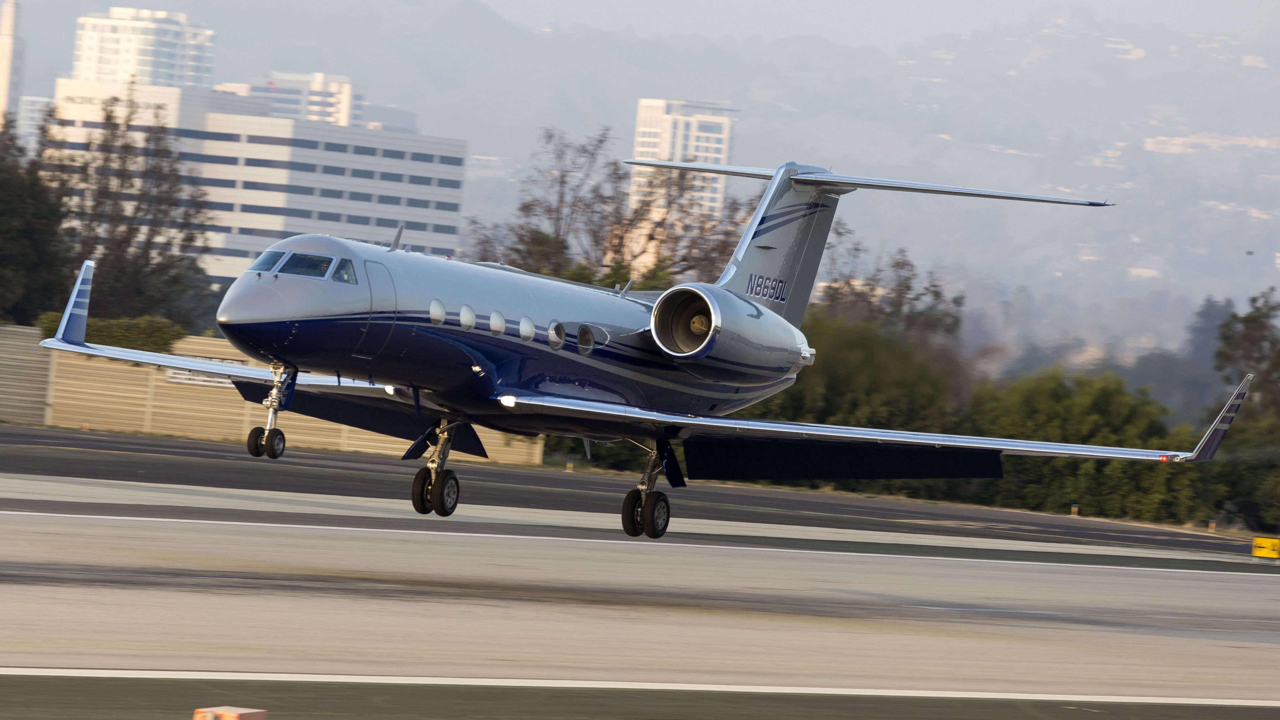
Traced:
<path fill-rule="evenodd" d="M 76 19 L 73 79 L 207 88 L 212 64 L 214 31 L 186 13 L 111 8 Z"/>

